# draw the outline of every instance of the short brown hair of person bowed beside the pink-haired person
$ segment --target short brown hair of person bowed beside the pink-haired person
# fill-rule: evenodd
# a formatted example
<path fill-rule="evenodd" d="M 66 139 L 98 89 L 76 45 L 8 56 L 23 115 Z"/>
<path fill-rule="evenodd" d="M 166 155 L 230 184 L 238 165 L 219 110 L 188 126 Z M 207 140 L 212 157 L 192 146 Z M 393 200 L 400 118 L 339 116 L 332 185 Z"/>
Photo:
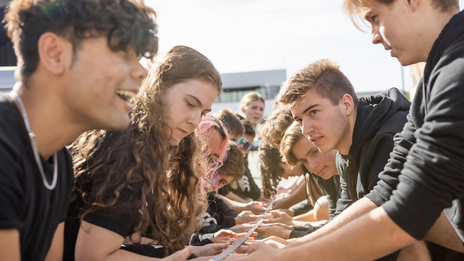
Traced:
<path fill-rule="evenodd" d="M 235 142 L 229 141 L 227 144 L 227 156 L 224 158 L 224 164 L 219 168 L 219 171 L 235 180 L 242 179 L 245 173 L 243 152 Z"/>

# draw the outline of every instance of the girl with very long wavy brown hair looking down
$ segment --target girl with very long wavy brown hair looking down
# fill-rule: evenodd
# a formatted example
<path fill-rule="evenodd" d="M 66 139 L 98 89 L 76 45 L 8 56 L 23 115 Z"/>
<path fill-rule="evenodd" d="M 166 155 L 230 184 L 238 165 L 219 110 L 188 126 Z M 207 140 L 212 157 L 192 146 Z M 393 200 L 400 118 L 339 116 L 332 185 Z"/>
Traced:
<path fill-rule="evenodd" d="M 206 209 L 193 131 L 222 90 L 219 72 L 187 46 L 148 72 L 133 98 L 117 93 L 133 107 L 126 130 L 89 131 L 70 146 L 76 186 L 64 260 L 151 260 L 122 243 L 183 248 Z"/>

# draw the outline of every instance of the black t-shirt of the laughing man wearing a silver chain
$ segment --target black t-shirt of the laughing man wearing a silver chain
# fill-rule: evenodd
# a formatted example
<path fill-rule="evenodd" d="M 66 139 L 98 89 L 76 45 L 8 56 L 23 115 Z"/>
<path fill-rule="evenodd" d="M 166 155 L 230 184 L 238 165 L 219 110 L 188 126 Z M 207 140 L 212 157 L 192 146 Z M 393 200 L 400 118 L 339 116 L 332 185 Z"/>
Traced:
<path fill-rule="evenodd" d="M 42 159 L 49 184 L 53 157 Z M 74 182 L 69 152 L 58 151 L 57 185 L 45 188 L 18 108 L 0 94 L 0 229 L 18 229 L 21 260 L 44 260 L 59 223 L 66 219 Z"/>

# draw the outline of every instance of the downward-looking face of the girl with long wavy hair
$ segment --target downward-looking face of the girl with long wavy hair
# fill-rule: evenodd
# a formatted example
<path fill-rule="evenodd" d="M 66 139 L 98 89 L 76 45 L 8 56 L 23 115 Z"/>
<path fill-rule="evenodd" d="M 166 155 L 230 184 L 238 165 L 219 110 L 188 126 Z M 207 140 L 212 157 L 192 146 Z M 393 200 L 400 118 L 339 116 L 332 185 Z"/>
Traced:
<path fill-rule="evenodd" d="M 218 95 L 216 86 L 200 79 L 188 79 L 166 89 L 163 102 L 168 128 L 163 132 L 171 136 L 169 145 L 178 145 L 198 127 Z"/>

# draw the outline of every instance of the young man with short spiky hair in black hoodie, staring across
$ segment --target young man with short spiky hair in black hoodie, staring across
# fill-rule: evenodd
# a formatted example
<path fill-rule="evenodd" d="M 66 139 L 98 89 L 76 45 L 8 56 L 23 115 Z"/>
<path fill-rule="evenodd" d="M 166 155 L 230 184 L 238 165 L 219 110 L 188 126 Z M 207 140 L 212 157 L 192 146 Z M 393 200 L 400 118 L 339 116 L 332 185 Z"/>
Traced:
<path fill-rule="evenodd" d="M 292 75 L 279 104 L 291 111 L 303 135 L 320 152 L 338 150 L 341 198 L 335 216 L 377 184 L 393 150 L 393 136 L 406 123 L 411 105 L 396 88 L 358 98 L 339 66 L 328 59 Z M 397 254 L 382 258 L 396 259 Z"/>

